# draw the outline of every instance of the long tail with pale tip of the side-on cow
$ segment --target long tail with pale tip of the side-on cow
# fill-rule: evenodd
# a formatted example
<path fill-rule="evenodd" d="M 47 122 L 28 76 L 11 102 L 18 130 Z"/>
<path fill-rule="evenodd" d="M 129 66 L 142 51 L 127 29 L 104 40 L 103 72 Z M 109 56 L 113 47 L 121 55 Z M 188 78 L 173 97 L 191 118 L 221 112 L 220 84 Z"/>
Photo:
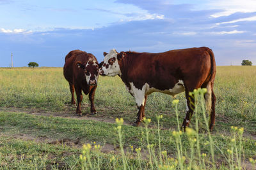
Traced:
<path fill-rule="evenodd" d="M 209 53 L 211 57 L 211 73 L 210 73 L 210 80 L 207 83 L 207 92 L 205 94 L 205 107 L 207 113 L 211 113 L 211 108 L 212 108 L 212 89 L 213 89 L 213 83 L 215 79 L 215 74 L 216 74 L 216 63 L 215 63 L 215 58 L 214 58 L 214 53 L 210 48 L 207 48 L 207 52 Z"/>

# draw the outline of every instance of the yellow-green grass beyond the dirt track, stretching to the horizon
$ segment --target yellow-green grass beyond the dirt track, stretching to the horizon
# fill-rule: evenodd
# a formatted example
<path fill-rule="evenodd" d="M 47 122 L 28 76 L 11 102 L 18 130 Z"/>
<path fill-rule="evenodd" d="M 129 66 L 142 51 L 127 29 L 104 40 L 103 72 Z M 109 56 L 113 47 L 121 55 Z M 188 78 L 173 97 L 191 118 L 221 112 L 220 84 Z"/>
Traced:
<path fill-rule="evenodd" d="M 255 66 L 217 67 L 214 91 L 216 101 L 216 126 L 253 124 L 256 120 Z M 62 68 L 0 68 L 0 107 L 31 108 L 39 111 L 65 111 L 74 114 L 76 108 L 70 107 L 68 83 L 63 77 Z M 184 93 L 177 96 L 179 110 L 185 115 Z M 148 96 L 146 117 L 156 114 L 166 117 L 164 127 L 174 127 L 175 115 L 172 97 L 153 93 Z M 89 113 L 88 96 L 83 99 L 83 113 Z M 118 76 L 101 77 L 95 95 L 95 106 L 99 112 L 96 117 L 124 117 L 129 122 L 136 119 L 136 104 L 125 89 Z M 181 117 L 181 119 L 182 119 Z M 154 119 L 156 122 L 156 120 Z M 221 124 L 221 122 L 224 124 Z M 193 119 L 192 119 L 193 124 Z M 216 129 L 218 130 L 218 128 Z"/>

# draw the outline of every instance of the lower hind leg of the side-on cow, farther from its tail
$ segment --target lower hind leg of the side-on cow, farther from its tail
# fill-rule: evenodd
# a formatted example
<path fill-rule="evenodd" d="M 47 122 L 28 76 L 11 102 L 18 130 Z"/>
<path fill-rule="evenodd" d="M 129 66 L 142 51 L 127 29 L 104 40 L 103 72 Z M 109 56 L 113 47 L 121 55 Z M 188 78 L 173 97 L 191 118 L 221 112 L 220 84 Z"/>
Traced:
<path fill-rule="evenodd" d="M 184 131 L 186 131 L 186 127 L 188 127 L 189 122 L 191 120 L 191 117 L 193 115 L 193 112 L 195 110 L 195 100 L 193 96 L 189 96 L 188 90 L 186 90 L 186 100 L 187 100 L 187 106 L 186 106 L 186 116 L 183 120 L 182 128 L 184 128 Z"/>

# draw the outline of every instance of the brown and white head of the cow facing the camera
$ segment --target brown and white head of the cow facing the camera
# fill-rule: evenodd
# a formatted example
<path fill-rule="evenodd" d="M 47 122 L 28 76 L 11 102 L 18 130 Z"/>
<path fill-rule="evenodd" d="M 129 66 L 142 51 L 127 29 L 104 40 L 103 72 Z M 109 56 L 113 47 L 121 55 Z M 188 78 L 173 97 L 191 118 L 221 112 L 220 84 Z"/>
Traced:
<path fill-rule="evenodd" d="M 76 66 L 83 69 L 87 84 L 92 86 L 97 85 L 101 65 L 95 59 L 89 59 L 86 64 L 82 64 L 80 61 L 76 62 Z"/>

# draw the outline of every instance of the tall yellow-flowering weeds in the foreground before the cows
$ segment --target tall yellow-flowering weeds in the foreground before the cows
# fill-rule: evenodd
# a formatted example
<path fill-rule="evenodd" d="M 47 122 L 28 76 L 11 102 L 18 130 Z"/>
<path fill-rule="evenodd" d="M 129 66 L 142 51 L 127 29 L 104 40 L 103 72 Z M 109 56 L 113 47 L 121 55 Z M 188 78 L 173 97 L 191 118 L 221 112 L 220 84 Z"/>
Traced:
<path fill-rule="evenodd" d="M 179 100 L 173 100 L 173 106 L 175 108 L 176 118 L 177 118 L 177 129 L 178 131 L 172 131 L 172 136 L 170 139 L 175 140 L 176 155 L 175 158 L 170 157 L 167 154 L 166 150 L 161 150 L 161 130 L 160 130 L 160 120 L 163 118 L 161 115 L 157 115 L 157 138 L 158 138 L 158 149 L 156 149 L 156 144 L 150 143 L 148 125 L 151 122 L 150 118 L 143 118 L 143 124 L 145 125 L 145 134 L 147 140 L 147 150 L 141 150 L 141 148 L 133 149 L 133 146 L 130 145 L 130 152 L 124 151 L 124 146 L 122 142 L 122 125 L 124 124 L 123 118 L 116 118 L 115 128 L 118 132 L 120 151 L 122 155 L 122 164 L 118 164 L 119 155 L 113 156 L 109 159 L 109 163 L 113 165 L 113 169 L 134 169 L 134 163 L 138 166 L 135 166 L 136 169 L 216 169 L 215 160 L 214 160 L 214 149 L 218 148 L 216 146 L 216 141 L 212 139 L 211 132 L 209 131 L 209 124 L 207 121 L 207 115 L 205 114 L 204 107 L 204 94 L 206 89 L 197 89 L 190 93 L 191 97 L 195 99 L 195 114 L 196 114 L 196 131 L 192 128 L 187 127 L 186 132 L 182 132 L 179 129 L 179 112 L 177 105 Z M 198 132 L 198 118 L 200 115 L 204 118 L 204 125 L 207 129 L 207 133 L 200 134 Z M 227 160 L 228 167 L 223 165 L 223 168 L 227 169 L 244 169 L 245 167 L 241 164 L 241 155 L 243 152 L 243 132 L 244 128 L 231 127 L 231 136 L 230 136 L 230 148 L 225 148 L 225 152 L 218 148 L 221 151 L 223 157 Z M 202 142 L 200 143 L 200 137 L 207 138 L 207 141 L 204 143 L 205 146 L 209 146 L 209 153 L 202 152 Z M 202 138 L 201 137 L 201 138 Z M 172 142 L 172 141 L 171 141 Z M 184 145 L 189 144 L 188 150 Z M 256 145 L 256 144 L 255 144 Z M 82 154 L 80 155 L 81 167 L 82 169 L 100 169 L 100 145 L 95 145 L 94 150 L 97 155 L 97 164 L 92 164 L 92 146 L 90 144 L 83 145 Z M 195 148 L 197 152 L 195 152 Z M 131 156 L 132 152 L 136 152 L 135 160 Z M 141 152 L 147 152 L 147 159 L 141 158 Z M 158 152 L 158 153 L 157 153 Z M 187 153 L 190 153 L 190 156 L 187 156 Z M 227 153 L 227 157 L 224 153 Z M 209 155 L 207 157 L 207 155 Z M 130 157 L 131 156 L 131 157 Z M 95 162 L 95 161 L 93 161 Z M 132 163 L 133 162 L 133 163 Z M 256 160 L 250 158 L 250 163 L 255 166 Z M 96 166 L 97 165 L 97 166 Z M 222 168 L 222 167 L 220 167 Z"/>

